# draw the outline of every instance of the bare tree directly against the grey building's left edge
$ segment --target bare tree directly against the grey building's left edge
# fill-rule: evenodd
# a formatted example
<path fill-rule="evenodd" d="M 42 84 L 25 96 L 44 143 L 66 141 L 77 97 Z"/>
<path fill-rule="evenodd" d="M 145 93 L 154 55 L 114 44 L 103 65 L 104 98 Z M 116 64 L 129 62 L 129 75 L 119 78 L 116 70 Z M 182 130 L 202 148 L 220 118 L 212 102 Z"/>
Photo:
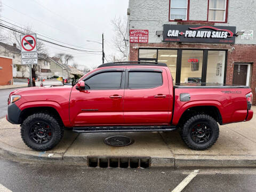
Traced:
<path fill-rule="evenodd" d="M 113 26 L 113 29 L 115 31 L 115 38 L 113 39 L 114 46 L 117 49 L 119 53 L 121 53 L 123 59 L 125 60 L 127 58 L 127 41 L 126 41 L 126 36 L 127 36 L 127 18 L 115 18 L 111 20 L 111 24 Z"/>

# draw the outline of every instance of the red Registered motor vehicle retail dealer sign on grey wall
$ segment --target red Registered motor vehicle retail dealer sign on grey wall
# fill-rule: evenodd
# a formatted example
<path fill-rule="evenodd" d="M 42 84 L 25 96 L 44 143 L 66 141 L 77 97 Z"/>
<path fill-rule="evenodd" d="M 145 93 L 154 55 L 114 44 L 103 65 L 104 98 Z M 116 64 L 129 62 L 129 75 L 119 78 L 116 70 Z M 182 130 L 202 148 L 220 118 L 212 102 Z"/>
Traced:
<path fill-rule="evenodd" d="M 130 43 L 148 43 L 148 30 L 131 29 Z"/>

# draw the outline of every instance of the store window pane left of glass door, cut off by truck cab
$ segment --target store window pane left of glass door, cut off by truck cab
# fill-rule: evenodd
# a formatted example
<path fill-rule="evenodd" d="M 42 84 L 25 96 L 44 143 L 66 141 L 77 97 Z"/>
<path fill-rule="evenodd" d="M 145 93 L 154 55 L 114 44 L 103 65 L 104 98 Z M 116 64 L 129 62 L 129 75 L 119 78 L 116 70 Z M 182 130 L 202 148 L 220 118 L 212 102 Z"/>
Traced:
<path fill-rule="evenodd" d="M 173 81 L 176 79 L 176 68 L 177 68 L 177 50 L 158 50 L 157 62 L 166 63 L 169 67 Z"/>

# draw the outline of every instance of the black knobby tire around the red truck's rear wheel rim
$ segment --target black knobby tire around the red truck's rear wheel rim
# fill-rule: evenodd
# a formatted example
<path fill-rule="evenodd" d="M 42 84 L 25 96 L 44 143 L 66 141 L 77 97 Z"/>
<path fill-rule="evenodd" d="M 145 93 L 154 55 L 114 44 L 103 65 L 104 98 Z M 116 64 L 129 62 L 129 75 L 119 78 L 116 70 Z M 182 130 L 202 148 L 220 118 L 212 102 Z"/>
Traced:
<path fill-rule="evenodd" d="M 195 141 L 193 141 L 190 135 L 191 129 L 193 129 L 195 124 L 198 124 L 200 122 L 207 122 L 207 125 L 212 130 L 212 134 L 209 141 L 202 144 L 196 143 Z M 186 143 L 186 145 L 190 149 L 194 149 L 194 150 L 209 149 L 212 145 L 214 145 L 214 143 L 217 141 L 219 137 L 219 125 L 215 121 L 215 119 L 209 115 L 205 115 L 205 114 L 195 115 L 193 117 L 190 117 L 183 125 L 181 130 L 181 137 L 182 137 L 182 140 Z"/>

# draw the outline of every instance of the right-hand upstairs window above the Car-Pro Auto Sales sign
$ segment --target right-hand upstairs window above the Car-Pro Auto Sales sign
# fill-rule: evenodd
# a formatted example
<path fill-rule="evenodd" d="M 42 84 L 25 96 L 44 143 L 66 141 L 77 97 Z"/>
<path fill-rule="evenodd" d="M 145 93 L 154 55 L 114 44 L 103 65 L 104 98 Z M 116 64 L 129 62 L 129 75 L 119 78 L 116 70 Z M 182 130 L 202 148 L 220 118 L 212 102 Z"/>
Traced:
<path fill-rule="evenodd" d="M 208 21 L 224 22 L 226 20 L 226 9 L 227 0 L 210 0 Z"/>

